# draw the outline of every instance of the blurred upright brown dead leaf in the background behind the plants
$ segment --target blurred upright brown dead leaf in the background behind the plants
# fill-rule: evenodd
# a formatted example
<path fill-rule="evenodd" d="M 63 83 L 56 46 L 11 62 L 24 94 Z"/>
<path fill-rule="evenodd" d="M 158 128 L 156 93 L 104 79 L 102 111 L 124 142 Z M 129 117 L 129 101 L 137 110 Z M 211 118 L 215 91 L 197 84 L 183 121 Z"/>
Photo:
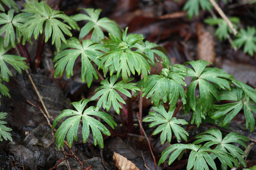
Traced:
<path fill-rule="evenodd" d="M 204 32 L 201 23 L 197 24 L 196 34 L 198 37 L 197 59 L 203 59 L 209 63 L 213 63 L 216 53 L 212 35 L 208 31 Z"/>

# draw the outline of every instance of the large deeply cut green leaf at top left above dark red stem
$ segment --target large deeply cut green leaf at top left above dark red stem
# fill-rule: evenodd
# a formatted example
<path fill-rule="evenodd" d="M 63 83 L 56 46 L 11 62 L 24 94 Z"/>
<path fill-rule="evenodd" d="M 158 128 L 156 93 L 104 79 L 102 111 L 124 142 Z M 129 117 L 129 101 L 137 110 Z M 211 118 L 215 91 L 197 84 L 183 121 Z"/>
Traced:
<path fill-rule="evenodd" d="M 60 53 L 61 41 L 66 43 L 66 39 L 63 35 L 72 36 L 71 28 L 79 30 L 80 28 L 76 24 L 75 20 L 69 16 L 62 14 L 57 10 L 52 10 L 50 6 L 46 5 L 44 1 L 26 3 L 24 4 L 23 12 L 34 14 L 33 18 L 28 22 L 24 23 L 19 30 L 22 30 L 22 44 L 30 40 L 33 35 L 35 39 L 38 38 L 39 34 L 45 34 L 45 42 L 52 37 L 52 45 L 55 43 L 57 53 Z M 64 20 L 69 24 L 64 24 L 57 19 Z M 63 33 L 62 33 L 63 32 Z"/>

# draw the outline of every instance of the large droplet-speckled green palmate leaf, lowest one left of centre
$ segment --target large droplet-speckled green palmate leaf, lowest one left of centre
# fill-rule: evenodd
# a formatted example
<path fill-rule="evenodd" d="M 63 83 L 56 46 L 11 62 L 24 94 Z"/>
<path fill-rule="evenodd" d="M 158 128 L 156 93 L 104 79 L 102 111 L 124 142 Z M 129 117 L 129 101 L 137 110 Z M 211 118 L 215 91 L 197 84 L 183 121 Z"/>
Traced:
<path fill-rule="evenodd" d="M 70 118 L 66 119 L 58 128 L 55 133 L 56 143 L 58 149 L 64 145 L 64 139 L 67 135 L 67 142 L 68 145 L 71 147 L 73 143 L 73 139 L 77 141 L 77 132 L 78 126 L 80 124 L 80 120 L 82 119 L 82 138 L 83 142 L 85 143 L 88 139 L 90 134 L 90 128 L 93 134 L 94 145 L 99 144 L 101 148 L 103 148 L 103 137 L 102 134 L 110 136 L 110 131 L 97 119 L 94 119 L 91 116 L 98 116 L 102 118 L 108 125 L 112 128 L 117 126 L 117 124 L 112 120 L 113 117 L 110 116 L 108 113 L 96 111 L 94 106 L 89 107 L 88 109 L 84 110 L 86 104 L 89 102 L 89 99 L 82 99 L 78 102 L 72 102 L 71 104 L 74 106 L 76 110 L 66 109 L 62 111 L 62 113 L 54 120 L 52 124 L 52 129 L 56 127 L 57 123 L 64 117 L 71 116 Z M 90 116 L 91 115 L 91 116 Z M 100 132 L 101 131 L 101 132 Z"/>

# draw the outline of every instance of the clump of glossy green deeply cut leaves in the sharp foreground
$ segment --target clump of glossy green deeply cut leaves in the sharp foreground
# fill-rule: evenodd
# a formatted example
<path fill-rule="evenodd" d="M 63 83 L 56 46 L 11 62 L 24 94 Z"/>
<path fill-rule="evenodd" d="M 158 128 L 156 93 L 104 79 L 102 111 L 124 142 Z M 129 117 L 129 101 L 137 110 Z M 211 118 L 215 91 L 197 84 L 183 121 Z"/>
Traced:
<path fill-rule="evenodd" d="M 112 128 L 116 127 L 117 124 L 113 117 L 107 112 L 113 107 L 114 111 L 119 114 L 122 109 L 120 103 L 126 104 L 119 94 L 122 93 L 127 98 L 131 98 L 131 91 L 135 92 L 135 95 L 142 93 L 142 96 L 146 96 L 146 98 L 151 97 L 151 102 L 155 106 L 152 109 L 156 112 L 150 112 L 150 116 L 146 117 L 143 122 L 152 122 L 150 127 L 160 125 L 156 127 L 153 135 L 161 133 L 162 144 L 166 141 L 171 142 L 172 135 L 176 136 L 177 142 L 181 142 L 182 139 L 187 141 L 187 136 L 189 136 L 188 132 L 180 126 L 187 125 L 188 122 L 173 117 L 179 98 L 183 103 L 184 113 L 191 115 L 190 123 L 195 123 L 198 127 L 206 117 L 217 123 L 218 126 L 224 127 L 243 108 L 246 128 L 249 128 L 251 132 L 254 130 L 255 120 L 252 112 L 256 112 L 256 91 L 241 81 L 235 80 L 232 75 L 228 75 L 222 69 L 206 67 L 210 63 L 204 60 L 185 63 L 185 65 L 191 65 L 189 68 L 185 65 L 171 65 L 163 47 L 148 41 L 144 42 L 144 37 L 141 35 L 128 34 L 128 28 L 122 33 L 122 29 L 113 20 L 99 19 L 101 10 L 87 8 L 83 9 L 87 14 L 69 17 L 60 11 L 50 9 L 43 1 L 31 3 L 27 0 L 26 2 L 24 10 L 20 14 L 14 16 L 14 10 L 9 10 L 7 14 L 0 14 L 0 24 L 4 25 L 0 29 L 0 33 L 5 32 L 6 35 L 6 38 L 0 38 L 2 44 L 0 48 L 0 53 L 2 51 L 0 91 L 2 95 L 10 97 L 7 87 L 2 84 L 2 81 L 8 81 L 9 76 L 12 76 L 6 63 L 12 65 L 18 72 L 28 68 L 23 61 L 24 57 L 6 53 L 16 43 L 20 43 L 21 39 L 22 44 L 30 41 L 32 35 L 35 39 L 38 36 L 44 36 L 41 38 L 42 40 L 40 38 L 38 40 L 44 42 L 52 38 L 52 45 L 55 43 L 57 54 L 54 57 L 54 61 L 56 61 L 54 77 L 63 75 L 64 71 L 66 77 L 72 76 L 74 62 L 78 57 L 81 57 L 82 61 L 81 80 L 86 81 L 88 87 L 91 86 L 93 78 L 98 79 L 99 70 L 105 77 L 109 75 L 101 81 L 102 86 L 96 89 L 96 94 L 91 99 L 73 102 L 75 110 L 66 109 L 55 119 L 52 128 L 55 128 L 64 117 L 68 117 L 55 133 L 58 149 L 64 145 L 65 138 L 69 146 L 72 146 L 73 140 L 78 140 L 80 123 L 82 124 L 83 142 L 87 141 L 91 129 L 94 144 L 98 143 L 103 148 L 102 133 L 108 136 L 111 133 L 99 120 L 102 119 Z M 37 9 L 41 7 L 44 11 L 38 13 Z M 192 13 L 194 14 L 196 11 Z M 40 20 L 40 22 L 33 22 L 35 20 Z M 72 36 L 71 28 L 79 30 L 75 20 L 89 22 L 80 30 L 79 39 L 71 37 L 66 40 L 63 33 Z M 7 28 L 13 31 L 8 32 Z M 109 32 L 108 37 L 104 38 L 102 28 Z M 90 31 L 92 31 L 92 39 L 83 40 L 82 38 Z M 240 38 L 247 35 L 245 33 Z M 16 41 L 14 41 L 15 37 Z M 252 51 L 248 49 L 248 52 Z M 158 61 L 159 58 L 155 59 L 155 55 L 158 55 L 162 61 Z M 154 66 L 156 61 L 162 63 L 164 68 L 158 75 L 149 75 L 150 65 Z M 132 75 L 142 75 L 144 78 L 134 83 Z M 184 90 L 184 87 L 187 86 L 184 82 L 185 77 L 192 77 L 186 91 Z M 200 92 L 198 96 L 195 95 L 196 89 Z M 90 101 L 95 100 L 97 101 L 96 107 L 87 107 Z M 234 101 L 234 103 L 218 105 L 221 100 Z M 169 105 L 168 109 L 164 108 L 164 103 Z M 6 113 L 0 113 L 0 119 L 4 119 L 5 115 Z M 7 138 L 12 140 L 10 133 L 7 132 L 10 131 L 10 128 L 4 126 L 5 123 L 0 121 L 0 140 L 2 140 L 1 136 L 5 140 Z M 191 150 L 187 169 L 202 167 L 208 169 L 210 166 L 216 170 L 216 158 L 222 163 L 222 169 L 237 167 L 239 166 L 238 161 L 242 166 L 246 166 L 244 158 L 242 158 L 245 153 L 232 143 L 236 142 L 246 148 L 243 141 L 248 141 L 248 138 L 235 132 L 231 132 L 223 139 L 222 135 L 220 130 L 212 128 L 199 134 L 196 137 L 199 139 L 193 144 L 173 144 L 163 151 L 159 165 L 169 155 L 168 163 L 172 164 L 176 158 L 182 157 L 184 150 Z M 209 142 L 203 146 L 198 144 L 205 141 Z M 217 144 L 217 146 L 213 147 L 213 144 Z M 232 148 L 237 152 L 234 152 Z"/>

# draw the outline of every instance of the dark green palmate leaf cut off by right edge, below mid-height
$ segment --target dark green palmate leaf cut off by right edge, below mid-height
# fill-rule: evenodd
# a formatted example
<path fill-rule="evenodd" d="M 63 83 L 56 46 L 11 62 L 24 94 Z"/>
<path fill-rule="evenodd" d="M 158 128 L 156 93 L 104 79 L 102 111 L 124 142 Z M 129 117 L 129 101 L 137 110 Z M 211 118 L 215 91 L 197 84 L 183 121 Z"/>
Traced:
<path fill-rule="evenodd" d="M 239 81 L 237 81 L 239 82 Z M 240 82 L 239 82 L 240 83 Z M 246 89 L 247 90 L 247 89 Z M 252 93 L 248 91 L 248 93 Z M 255 95 L 255 94 L 250 94 Z M 236 101 L 234 103 L 227 103 L 224 105 L 214 105 L 214 109 L 217 109 L 214 113 L 212 113 L 212 119 L 218 119 L 227 114 L 224 118 L 223 126 L 227 125 L 243 108 L 244 115 L 246 119 L 246 129 L 250 127 L 250 131 L 252 132 L 255 127 L 255 119 L 252 115 L 252 111 L 256 113 L 256 106 L 254 101 L 250 101 L 250 97 L 246 97 L 244 95 L 244 91 L 240 88 L 232 88 L 231 91 L 222 91 L 220 95 L 220 100 L 231 100 Z"/>

